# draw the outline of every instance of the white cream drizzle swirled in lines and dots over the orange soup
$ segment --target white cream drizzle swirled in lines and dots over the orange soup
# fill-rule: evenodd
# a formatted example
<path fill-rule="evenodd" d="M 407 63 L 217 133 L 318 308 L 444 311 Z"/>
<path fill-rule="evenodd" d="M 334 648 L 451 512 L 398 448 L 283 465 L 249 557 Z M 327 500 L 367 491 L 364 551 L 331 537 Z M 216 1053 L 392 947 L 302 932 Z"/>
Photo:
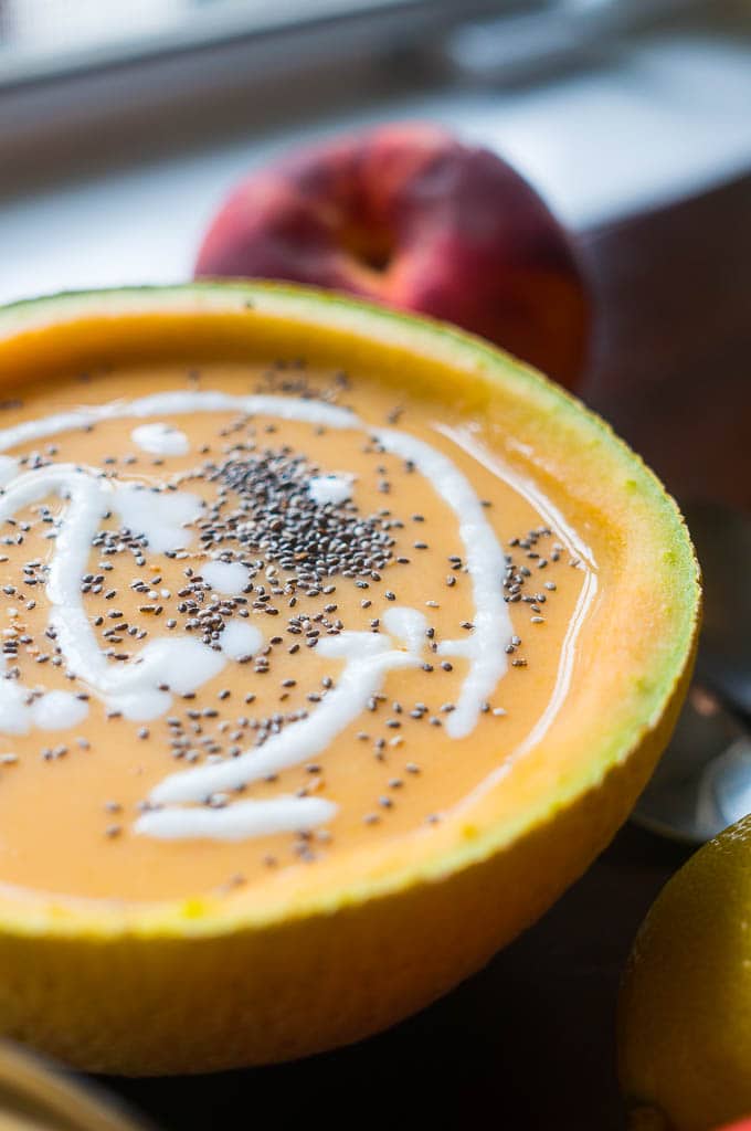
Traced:
<path fill-rule="evenodd" d="M 468 661 L 456 709 L 444 726 L 450 737 L 465 737 L 476 725 L 482 703 L 507 671 L 504 645 L 511 634 L 511 621 L 501 589 L 504 558 L 472 484 L 451 459 L 431 444 L 396 429 L 369 429 L 348 409 L 321 402 L 183 390 L 26 421 L 0 430 L 0 451 L 88 428 L 98 421 L 227 411 L 368 431 L 386 451 L 409 461 L 454 511 L 472 581 L 474 629 L 461 640 L 441 641 L 439 653 L 464 656 Z M 181 448 L 180 451 L 174 447 L 172 451 L 163 449 L 164 454 L 184 454 L 182 440 L 175 440 L 173 430 L 166 425 L 144 425 L 131 434 L 143 447 L 164 441 Z M 178 437 L 183 435 L 178 432 Z M 132 482 L 118 483 L 102 477 L 93 468 L 69 464 L 10 477 L 15 466 L 6 461 L 8 457 L 0 458 L 3 458 L 0 476 L 7 478 L 0 493 L 0 521 L 50 494 L 66 500 L 46 582 L 50 625 L 57 632 L 70 671 L 109 707 L 131 719 L 155 718 L 171 702 L 165 685 L 179 694 L 196 691 L 222 670 L 227 658 L 252 654 L 261 646 L 258 629 L 231 622 L 223 632 L 221 650 L 210 649 L 190 636 L 170 637 L 147 644 L 127 668 L 110 663 L 96 642 L 80 593 L 80 578 L 102 519 L 113 510 L 131 533 L 145 535 L 153 551 L 172 551 L 189 545 L 191 534 L 185 526 L 199 516 L 201 500 L 188 492 L 156 492 Z M 352 482 L 344 475 L 318 476 L 311 481 L 310 490 L 321 502 L 340 502 L 352 494 Z M 240 576 L 241 569 L 244 567 L 240 563 L 212 561 L 202 568 L 202 573 L 217 592 L 236 593 L 247 580 L 247 572 Z M 260 750 L 251 749 L 224 762 L 170 775 L 152 792 L 149 803 L 155 808 L 141 814 L 136 831 L 162 838 L 241 839 L 285 829 L 313 828 L 330 820 L 336 806 L 322 798 L 278 797 L 234 802 L 219 808 L 196 808 L 196 803 L 210 801 L 217 793 L 242 788 L 325 751 L 365 709 L 389 671 L 418 665 L 425 642 L 423 614 L 414 608 L 389 607 L 382 621 L 389 634 L 342 632 L 338 637 L 321 639 L 319 655 L 343 661 L 344 665 L 336 685 L 312 715 L 273 735 Z M 55 718 L 61 720 L 61 726 L 71 725 L 68 722 L 70 703 L 52 700 L 53 694 L 48 693 L 29 707 L 17 682 L 0 679 L 0 729 L 24 734 L 32 723 L 50 725 Z"/>

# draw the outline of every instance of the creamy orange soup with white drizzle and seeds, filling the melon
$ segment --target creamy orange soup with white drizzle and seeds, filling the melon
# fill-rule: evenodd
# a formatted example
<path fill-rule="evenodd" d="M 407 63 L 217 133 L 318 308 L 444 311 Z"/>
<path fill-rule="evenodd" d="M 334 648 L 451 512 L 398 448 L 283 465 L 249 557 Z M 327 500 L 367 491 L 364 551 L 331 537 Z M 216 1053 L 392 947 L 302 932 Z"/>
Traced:
<path fill-rule="evenodd" d="M 3 396 L 0 883 L 310 875 L 440 835 L 554 722 L 587 530 L 458 407 L 300 360 Z"/>

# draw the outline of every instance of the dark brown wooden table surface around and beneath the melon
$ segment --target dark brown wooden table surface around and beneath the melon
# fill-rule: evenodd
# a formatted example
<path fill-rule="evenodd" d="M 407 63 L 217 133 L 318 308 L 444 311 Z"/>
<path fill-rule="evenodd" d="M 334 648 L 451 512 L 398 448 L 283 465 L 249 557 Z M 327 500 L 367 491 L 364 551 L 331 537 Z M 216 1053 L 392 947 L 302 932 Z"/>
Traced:
<path fill-rule="evenodd" d="M 681 498 L 751 506 L 751 176 L 582 239 L 586 399 Z M 547 915 L 448 998 L 313 1060 L 106 1081 L 170 1131 L 619 1131 L 614 1011 L 637 926 L 688 852 L 627 826 Z"/>

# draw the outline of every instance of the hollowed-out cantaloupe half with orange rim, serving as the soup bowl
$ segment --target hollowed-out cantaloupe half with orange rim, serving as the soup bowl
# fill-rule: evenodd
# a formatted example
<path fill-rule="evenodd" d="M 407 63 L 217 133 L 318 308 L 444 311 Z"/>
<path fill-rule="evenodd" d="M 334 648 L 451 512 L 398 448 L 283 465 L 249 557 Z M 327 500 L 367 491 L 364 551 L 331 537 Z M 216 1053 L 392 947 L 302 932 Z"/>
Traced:
<path fill-rule="evenodd" d="M 602 421 L 487 344 L 266 284 L 69 294 L 0 312 L 3 389 L 123 364 L 278 356 L 376 374 L 447 412 L 460 403 L 601 544 L 592 623 L 567 674 L 567 710 L 528 743 L 527 776 L 498 775 L 457 798 L 418 841 L 381 841 L 376 830 L 365 854 L 232 898 L 87 899 L 20 890 L 0 874 L 0 1033 L 87 1069 L 172 1073 L 301 1056 L 444 993 L 607 844 L 690 675 L 700 590 L 675 504 Z"/>

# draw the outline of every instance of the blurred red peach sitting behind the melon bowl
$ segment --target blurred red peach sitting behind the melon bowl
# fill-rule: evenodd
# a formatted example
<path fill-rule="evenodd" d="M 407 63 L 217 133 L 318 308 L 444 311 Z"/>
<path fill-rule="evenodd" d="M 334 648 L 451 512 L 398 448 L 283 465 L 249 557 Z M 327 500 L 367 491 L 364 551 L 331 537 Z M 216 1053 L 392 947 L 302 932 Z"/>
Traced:
<path fill-rule="evenodd" d="M 572 385 L 587 301 L 560 225 L 489 149 L 431 124 L 323 141 L 252 173 L 200 249 L 197 276 L 348 291 L 480 334 Z"/>

